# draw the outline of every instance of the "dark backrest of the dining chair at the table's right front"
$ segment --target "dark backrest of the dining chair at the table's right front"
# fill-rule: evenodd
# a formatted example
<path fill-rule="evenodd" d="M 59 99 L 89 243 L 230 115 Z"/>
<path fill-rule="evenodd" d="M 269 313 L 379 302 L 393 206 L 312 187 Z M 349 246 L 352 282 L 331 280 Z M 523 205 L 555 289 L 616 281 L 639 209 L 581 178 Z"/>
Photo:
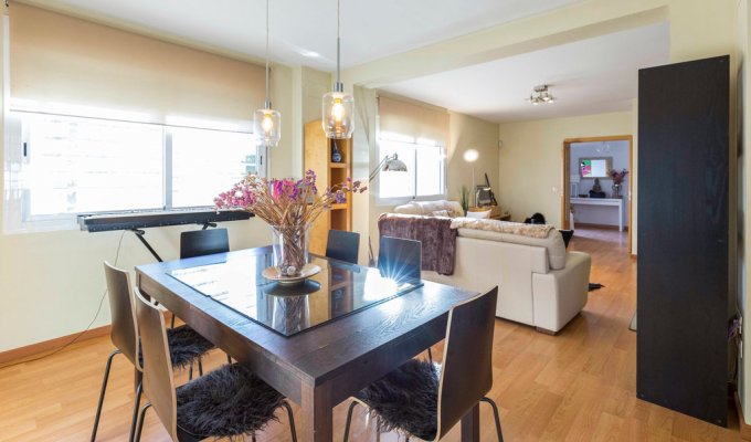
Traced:
<path fill-rule="evenodd" d="M 436 441 L 493 387 L 493 333 L 498 287 L 454 306 L 448 313 L 446 347 L 438 387 Z"/>

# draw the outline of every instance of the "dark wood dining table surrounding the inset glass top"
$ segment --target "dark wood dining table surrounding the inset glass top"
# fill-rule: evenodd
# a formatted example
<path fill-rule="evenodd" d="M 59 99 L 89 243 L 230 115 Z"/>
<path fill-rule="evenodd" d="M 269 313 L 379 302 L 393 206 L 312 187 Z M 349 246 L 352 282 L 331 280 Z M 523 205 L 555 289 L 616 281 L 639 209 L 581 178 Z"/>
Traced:
<path fill-rule="evenodd" d="M 178 270 L 268 254 L 269 248 L 257 248 L 139 265 L 137 284 L 145 295 L 297 403 L 302 441 L 331 441 L 334 407 L 442 340 L 452 306 L 476 295 L 423 281 L 396 297 L 284 336 L 170 275 Z M 343 265 L 321 256 L 315 262 L 329 270 Z M 248 265 L 247 272 L 255 270 Z M 358 290 L 351 282 L 349 287 L 347 281 L 338 284 L 339 292 L 324 284 L 325 297 Z M 331 303 L 326 305 L 334 308 Z M 461 427 L 462 441 L 479 440 L 477 407 L 467 412 Z"/>

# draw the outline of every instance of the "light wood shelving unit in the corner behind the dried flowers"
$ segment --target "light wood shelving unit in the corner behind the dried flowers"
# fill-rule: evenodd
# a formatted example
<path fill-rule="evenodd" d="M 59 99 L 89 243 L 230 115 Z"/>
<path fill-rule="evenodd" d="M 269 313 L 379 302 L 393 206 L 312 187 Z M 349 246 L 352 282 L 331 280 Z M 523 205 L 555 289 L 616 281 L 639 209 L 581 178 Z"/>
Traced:
<path fill-rule="evenodd" d="M 336 144 L 341 154 L 341 162 L 331 162 L 332 145 Z M 328 139 L 324 134 L 320 119 L 305 125 L 305 170 L 313 169 L 318 176 L 318 189 L 338 185 L 352 176 L 352 140 Z M 352 199 L 334 204 L 331 210 L 318 217 L 310 229 L 310 252 L 326 253 L 328 231 L 352 229 Z"/>

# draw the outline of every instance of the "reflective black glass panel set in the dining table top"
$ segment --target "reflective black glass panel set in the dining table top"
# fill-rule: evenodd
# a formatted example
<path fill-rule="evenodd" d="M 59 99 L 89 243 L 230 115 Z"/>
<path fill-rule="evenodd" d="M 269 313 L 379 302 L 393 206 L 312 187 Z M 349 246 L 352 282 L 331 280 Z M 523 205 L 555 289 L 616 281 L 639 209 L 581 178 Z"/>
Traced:
<path fill-rule="evenodd" d="M 272 253 L 242 254 L 228 261 L 168 274 L 254 322 L 293 336 L 401 296 L 423 285 L 414 278 L 385 277 L 378 269 L 311 256 L 320 273 L 295 286 L 262 276 Z"/>

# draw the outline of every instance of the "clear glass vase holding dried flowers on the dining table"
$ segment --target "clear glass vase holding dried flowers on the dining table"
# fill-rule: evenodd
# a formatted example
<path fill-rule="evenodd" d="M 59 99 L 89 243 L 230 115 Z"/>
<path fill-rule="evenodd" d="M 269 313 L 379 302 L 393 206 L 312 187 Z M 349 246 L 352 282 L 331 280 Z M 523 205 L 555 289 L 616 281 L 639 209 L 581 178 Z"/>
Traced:
<path fill-rule="evenodd" d="M 310 224 L 271 225 L 274 266 L 279 275 L 299 276 L 308 263 Z"/>

